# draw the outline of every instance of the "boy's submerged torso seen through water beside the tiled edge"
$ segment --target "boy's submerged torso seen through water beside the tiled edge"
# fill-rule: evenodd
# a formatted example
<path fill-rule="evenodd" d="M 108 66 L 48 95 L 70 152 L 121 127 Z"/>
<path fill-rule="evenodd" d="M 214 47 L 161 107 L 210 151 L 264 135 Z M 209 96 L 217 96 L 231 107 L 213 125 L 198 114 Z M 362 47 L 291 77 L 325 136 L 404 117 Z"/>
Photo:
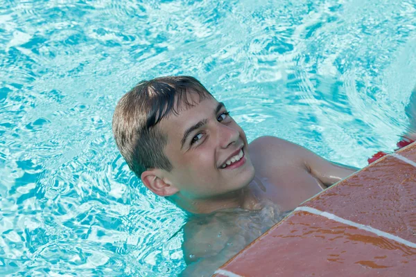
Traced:
<path fill-rule="evenodd" d="M 290 212 L 281 211 L 267 199 L 260 205 L 255 211 L 235 208 L 190 217 L 182 245 L 189 266 L 182 276 L 211 276 Z"/>

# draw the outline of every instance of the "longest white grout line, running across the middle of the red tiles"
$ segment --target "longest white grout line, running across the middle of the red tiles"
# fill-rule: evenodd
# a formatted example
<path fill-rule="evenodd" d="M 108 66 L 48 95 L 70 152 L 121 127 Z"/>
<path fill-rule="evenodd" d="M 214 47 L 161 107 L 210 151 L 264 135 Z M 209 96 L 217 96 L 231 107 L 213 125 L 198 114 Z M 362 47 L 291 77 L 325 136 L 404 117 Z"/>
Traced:
<path fill-rule="evenodd" d="M 321 215 L 323 217 L 327 217 L 329 220 L 335 220 L 337 222 L 341 222 L 341 223 L 347 224 L 349 226 L 354 226 L 358 229 L 369 231 L 371 233 L 375 233 L 376 235 L 379 235 L 381 237 L 388 238 L 390 240 L 395 240 L 397 242 L 400 242 L 402 244 L 407 245 L 408 247 L 416 248 L 416 243 L 414 243 L 414 242 L 409 242 L 408 240 L 404 240 L 403 238 L 399 238 L 396 235 L 392 235 L 390 233 L 385 233 L 383 231 L 380 231 L 379 229 L 372 228 L 371 226 L 368 226 L 368 225 L 363 225 L 363 224 L 359 224 L 359 223 L 352 222 L 352 221 L 349 221 L 349 220 L 345 220 L 341 217 L 337 217 L 336 215 L 333 215 L 332 213 L 322 212 L 322 211 L 319 211 L 315 208 L 310 208 L 310 207 L 297 207 L 297 208 L 295 208 L 295 211 L 305 211 L 305 212 L 308 212 L 308 213 L 313 213 L 315 215 Z"/>

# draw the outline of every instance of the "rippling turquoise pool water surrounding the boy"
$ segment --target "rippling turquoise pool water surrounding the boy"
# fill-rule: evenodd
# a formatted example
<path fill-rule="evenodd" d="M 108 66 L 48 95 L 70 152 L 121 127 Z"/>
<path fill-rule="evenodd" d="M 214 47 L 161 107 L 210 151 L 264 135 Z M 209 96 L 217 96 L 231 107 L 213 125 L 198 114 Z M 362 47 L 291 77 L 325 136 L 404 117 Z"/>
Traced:
<path fill-rule="evenodd" d="M 63 3 L 65 2 L 65 3 Z M 363 167 L 416 83 L 416 0 L 0 0 L 0 275 L 175 276 L 184 214 L 111 133 L 139 80 L 193 75 L 251 141 Z"/>

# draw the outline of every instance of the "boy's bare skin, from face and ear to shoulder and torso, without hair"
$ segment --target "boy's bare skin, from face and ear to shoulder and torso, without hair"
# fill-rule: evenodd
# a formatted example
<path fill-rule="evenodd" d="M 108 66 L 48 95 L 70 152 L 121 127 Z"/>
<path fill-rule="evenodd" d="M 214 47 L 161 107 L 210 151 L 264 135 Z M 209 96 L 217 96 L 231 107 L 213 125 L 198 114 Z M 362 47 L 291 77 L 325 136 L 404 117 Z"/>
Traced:
<path fill-rule="evenodd" d="M 211 276 L 285 211 L 357 170 L 274 136 L 248 144 L 243 129 L 217 100 L 188 97 L 193 107 L 158 126 L 167 137 L 164 152 L 173 170 L 153 168 L 141 175 L 150 190 L 192 214 L 184 226 L 182 249 L 189 266 L 182 276 Z M 198 123 L 204 124 L 182 145 L 184 133 Z M 220 168 L 240 148 L 243 165 Z"/>

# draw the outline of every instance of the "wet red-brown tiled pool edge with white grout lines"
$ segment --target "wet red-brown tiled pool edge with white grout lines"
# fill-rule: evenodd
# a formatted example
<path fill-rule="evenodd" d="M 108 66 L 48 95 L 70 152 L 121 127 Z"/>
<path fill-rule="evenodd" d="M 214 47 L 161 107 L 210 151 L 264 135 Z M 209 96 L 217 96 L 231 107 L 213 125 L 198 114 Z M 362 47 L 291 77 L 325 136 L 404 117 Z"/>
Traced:
<path fill-rule="evenodd" d="M 413 276 L 416 143 L 302 203 L 216 276 Z"/>

